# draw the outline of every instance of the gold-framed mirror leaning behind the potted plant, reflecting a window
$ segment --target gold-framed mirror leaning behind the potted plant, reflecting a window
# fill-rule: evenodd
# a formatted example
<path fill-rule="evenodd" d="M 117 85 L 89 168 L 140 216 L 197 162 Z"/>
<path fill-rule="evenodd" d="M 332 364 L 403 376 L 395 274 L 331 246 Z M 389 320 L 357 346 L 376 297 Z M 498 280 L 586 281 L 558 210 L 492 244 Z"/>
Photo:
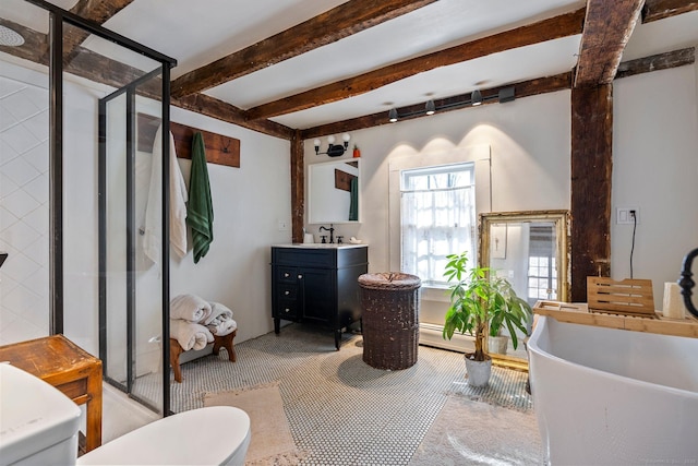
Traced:
<path fill-rule="evenodd" d="M 567 301 L 569 295 L 568 211 L 503 212 L 480 215 L 480 265 L 507 278 L 531 307 L 539 299 Z M 529 331 L 532 319 L 528 324 Z M 490 340 L 492 357 L 505 366 L 527 363 L 526 348 L 514 350 L 508 332 Z M 506 346 L 505 346 L 506 345 Z M 496 347 L 495 347 L 496 346 Z M 506 349 L 504 349 L 506 348 Z M 508 363 L 507 363 L 508 362 Z"/>

